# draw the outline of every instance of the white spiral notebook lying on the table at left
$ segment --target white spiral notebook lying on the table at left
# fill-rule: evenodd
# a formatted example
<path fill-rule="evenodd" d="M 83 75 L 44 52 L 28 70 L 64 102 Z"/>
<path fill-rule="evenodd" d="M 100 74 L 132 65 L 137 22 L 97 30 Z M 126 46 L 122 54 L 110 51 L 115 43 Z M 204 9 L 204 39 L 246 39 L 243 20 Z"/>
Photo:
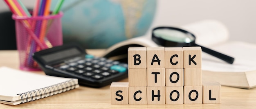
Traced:
<path fill-rule="evenodd" d="M 18 105 L 78 88 L 78 80 L 0 67 L 0 103 Z"/>

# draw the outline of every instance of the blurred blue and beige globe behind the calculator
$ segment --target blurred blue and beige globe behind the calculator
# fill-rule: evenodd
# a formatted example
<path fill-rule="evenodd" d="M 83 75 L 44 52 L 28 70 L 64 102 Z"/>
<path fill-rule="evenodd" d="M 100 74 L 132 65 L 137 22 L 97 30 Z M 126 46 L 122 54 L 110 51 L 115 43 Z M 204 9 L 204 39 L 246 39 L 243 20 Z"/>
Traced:
<path fill-rule="evenodd" d="M 52 9 L 58 0 L 53 0 Z M 153 21 L 156 0 L 65 0 L 63 43 L 108 48 L 144 35 Z"/>

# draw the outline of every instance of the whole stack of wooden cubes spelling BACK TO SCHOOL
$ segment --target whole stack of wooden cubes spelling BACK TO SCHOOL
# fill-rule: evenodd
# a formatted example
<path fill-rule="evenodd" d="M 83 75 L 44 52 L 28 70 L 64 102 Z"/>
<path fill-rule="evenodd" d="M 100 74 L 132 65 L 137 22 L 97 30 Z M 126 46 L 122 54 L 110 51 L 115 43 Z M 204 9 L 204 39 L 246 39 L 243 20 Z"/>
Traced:
<path fill-rule="evenodd" d="M 201 53 L 200 47 L 129 48 L 129 83 L 111 84 L 111 104 L 220 103 L 221 85 L 202 83 Z"/>

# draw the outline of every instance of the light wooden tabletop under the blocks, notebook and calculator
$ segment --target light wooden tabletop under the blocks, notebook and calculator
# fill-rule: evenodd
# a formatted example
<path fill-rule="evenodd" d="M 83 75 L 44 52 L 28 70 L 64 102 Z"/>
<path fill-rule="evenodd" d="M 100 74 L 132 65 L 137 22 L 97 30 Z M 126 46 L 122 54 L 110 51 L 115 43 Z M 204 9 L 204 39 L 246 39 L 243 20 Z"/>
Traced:
<path fill-rule="evenodd" d="M 99 55 L 103 50 L 88 50 L 88 53 Z M 19 68 L 16 50 L 0 50 L 0 66 Z M 2 72 L 1 72 L 2 73 Z M 44 74 L 43 71 L 33 72 Z M 128 82 L 128 78 L 120 81 Z M 1 87 L 0 87 L 1 89 Z M 111 105 L 110 85 L 101 88 L 80 86 L 77 89 L 23 103 L 20 105 L 0 104 L 0 109 L 31 108 L 31 109 L 85 109 L 85 108 L 173 108 L 173 109 L 256 109 L 256 88 L 239 89 L 222 86 L 221 104 L 183 104 L 183 105 Z"/>

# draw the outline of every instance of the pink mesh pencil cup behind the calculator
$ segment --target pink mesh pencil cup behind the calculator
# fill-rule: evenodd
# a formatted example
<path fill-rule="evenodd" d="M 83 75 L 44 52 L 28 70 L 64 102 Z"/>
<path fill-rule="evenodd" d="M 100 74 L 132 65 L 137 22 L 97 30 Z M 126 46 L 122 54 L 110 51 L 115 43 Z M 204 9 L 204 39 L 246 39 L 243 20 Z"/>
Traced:
<path fill-rule="evenodd" d="M 15 20 L 16 43 L 21 70 L 40 70 L 32 54 L 36 51 L 63 44 L 61 17 L 57 15 L 23 17 L 12 15 Z"/>

